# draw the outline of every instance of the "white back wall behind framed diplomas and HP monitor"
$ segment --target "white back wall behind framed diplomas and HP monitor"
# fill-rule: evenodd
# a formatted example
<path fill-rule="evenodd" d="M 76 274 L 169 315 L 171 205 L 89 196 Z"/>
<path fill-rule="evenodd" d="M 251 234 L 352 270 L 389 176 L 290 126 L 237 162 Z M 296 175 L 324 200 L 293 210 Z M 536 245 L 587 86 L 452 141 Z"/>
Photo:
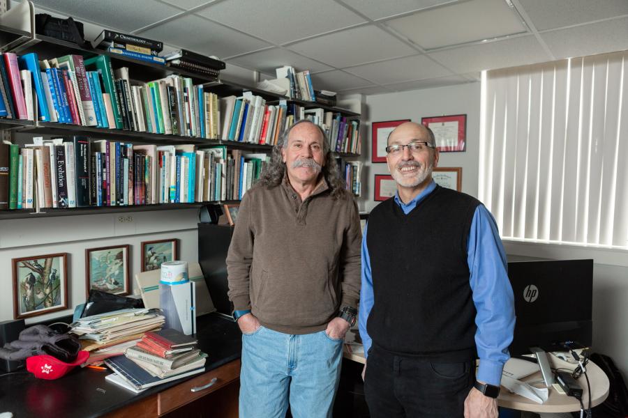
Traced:
<path fill-rule="evenodd" d="M 441 153 L 439 167 L 462 167 L 463 192 L 477 196 L 480 84 L 431 88 L 403 93 L 366 96 L 366 112 L 362 123 L 364 172 L 362 174 L 361 210 L 370 211 L 375 174 L 388 174 L 385 163 L 371 163 L 371 123 L 421 117 L 467 114 L 467 148 L 464 153 Z M 507 254 L 541 258 L 593 258 L 593 347 L 615 359 L 628 377 L 628 257 L 626 251 L 504 242 Z M 569 296 L 566 289 L 565 297 Z M 577 301 L 574 301 L 577 306 Z"/>

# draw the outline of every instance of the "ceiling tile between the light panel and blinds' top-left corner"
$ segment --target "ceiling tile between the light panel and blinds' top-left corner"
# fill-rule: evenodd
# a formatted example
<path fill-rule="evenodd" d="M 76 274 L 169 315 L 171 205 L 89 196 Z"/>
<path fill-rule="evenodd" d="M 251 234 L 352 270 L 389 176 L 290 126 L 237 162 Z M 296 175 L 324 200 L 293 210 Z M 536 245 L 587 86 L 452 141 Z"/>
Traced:
<path fill-rule="evenodd" d="M 445 49 L 429 55 L 457 74 L 553 61 L 532 35 Z"/>

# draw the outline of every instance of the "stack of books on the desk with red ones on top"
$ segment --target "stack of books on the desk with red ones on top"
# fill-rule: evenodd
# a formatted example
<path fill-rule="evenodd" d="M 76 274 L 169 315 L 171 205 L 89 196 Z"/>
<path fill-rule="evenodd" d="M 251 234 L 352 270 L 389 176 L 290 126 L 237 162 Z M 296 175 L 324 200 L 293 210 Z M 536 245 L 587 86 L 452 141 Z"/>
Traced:
<path fill-rule="evenodd" d="M 134 391 L 204 371 L 206 353 L 197 341 L 177 330 L 147 332 L 124 355 L 105 359 L 115 373 L 106 379 Z"/>

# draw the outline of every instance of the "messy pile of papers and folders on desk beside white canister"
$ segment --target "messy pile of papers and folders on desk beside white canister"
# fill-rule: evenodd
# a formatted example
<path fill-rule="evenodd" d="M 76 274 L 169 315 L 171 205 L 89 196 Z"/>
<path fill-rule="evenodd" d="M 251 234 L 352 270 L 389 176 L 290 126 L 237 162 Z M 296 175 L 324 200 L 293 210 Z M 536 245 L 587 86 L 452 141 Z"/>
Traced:
<path fill-rule="evenodd" d="M 80 318 L 70 324 L 83 350 L 92 351 L 141 339 L 144 332 L 157 331 L 165 318 L 158 309 L 121 309 Z"/>

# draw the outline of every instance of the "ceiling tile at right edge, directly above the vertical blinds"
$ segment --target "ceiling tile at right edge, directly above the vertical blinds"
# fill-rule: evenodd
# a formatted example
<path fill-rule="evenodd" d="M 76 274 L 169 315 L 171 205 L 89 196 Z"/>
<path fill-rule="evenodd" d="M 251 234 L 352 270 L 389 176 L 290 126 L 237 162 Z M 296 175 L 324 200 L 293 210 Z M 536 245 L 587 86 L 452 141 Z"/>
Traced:
<path fill-rule="evenodd" d="M 628 18 L 541 33 L 556 59 L 628 49 Z"/>

